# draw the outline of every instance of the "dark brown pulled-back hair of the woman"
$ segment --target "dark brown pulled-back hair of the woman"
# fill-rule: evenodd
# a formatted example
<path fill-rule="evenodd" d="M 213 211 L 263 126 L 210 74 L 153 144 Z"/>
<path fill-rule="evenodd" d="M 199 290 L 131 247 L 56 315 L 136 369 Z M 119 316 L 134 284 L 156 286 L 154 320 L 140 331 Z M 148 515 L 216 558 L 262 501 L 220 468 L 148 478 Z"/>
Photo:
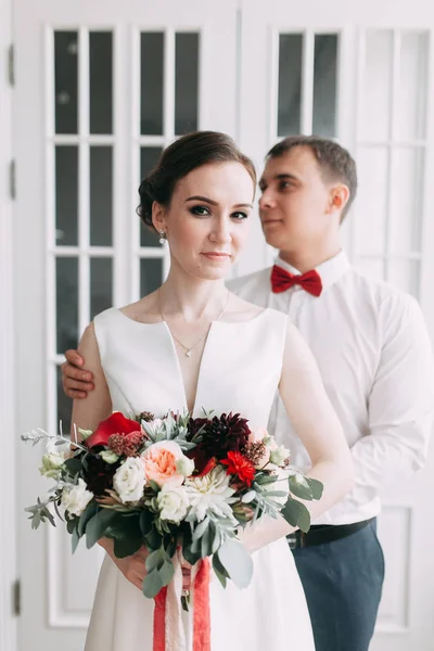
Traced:
<path fill-rule="evenodd" d="M 177 182 L 193 169 L 209 163 L 240 163 L 256 188 L 255 166 L 240 152 L 232 138 L 218 131 L 194 131 L 169 144 L 154 169 L 140 183 L 137 213 L 141 220 L 155 230 L 152 224 L 154 201 L 168 206 Z"/>

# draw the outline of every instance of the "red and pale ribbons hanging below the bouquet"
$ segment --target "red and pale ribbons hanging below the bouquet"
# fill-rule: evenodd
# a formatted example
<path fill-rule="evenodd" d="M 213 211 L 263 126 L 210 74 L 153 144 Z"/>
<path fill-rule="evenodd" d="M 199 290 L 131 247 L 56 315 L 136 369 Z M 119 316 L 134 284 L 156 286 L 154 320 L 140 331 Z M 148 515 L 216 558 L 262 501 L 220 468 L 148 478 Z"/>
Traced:
<path fill-rule="evenodd" d="M 153 651 L 188 651 L 182 623 L 182 570 L 179 553 L 174 559 L 175 576 L 155 597 Z M 193 603 L 192 651 L 210 651 L 209 560 L 191 570 Z"/>

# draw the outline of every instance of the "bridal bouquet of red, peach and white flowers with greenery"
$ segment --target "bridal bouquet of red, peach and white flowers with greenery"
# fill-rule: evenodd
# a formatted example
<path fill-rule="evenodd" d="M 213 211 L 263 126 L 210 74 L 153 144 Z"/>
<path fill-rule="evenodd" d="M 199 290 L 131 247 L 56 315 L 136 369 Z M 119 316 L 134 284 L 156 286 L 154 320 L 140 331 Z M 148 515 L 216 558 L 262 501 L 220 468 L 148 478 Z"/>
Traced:
<path fill-rule="evenodd" d="M 224 587 L 228 578 L 247 586 L 253 562 L 238 539 L 240 527 L 281 514 L 306 532 L 309 512 L 296 498 L 322 493 L 319 482 L 291 468 L 285 447 L 266 430 L 251 430 L 240 414 L 130 419 L 114 412 L 94 432 L 78 434 L 80 442 L 41 430 L 22 435 L 34 445 L 46 442 L 40 472 L 54 481 L 48 498 L 26 509 L 31 526 L 55 525 L 52 506 L 66 522 L 73 551 L 82 537 L 88 548 L 113 538 L 118 558 L 144 545 L 149 598 L 167 599 L 175 590 L 180 603 L 182 557 L 193 567 L 193 596 L 210 566 Z"/>

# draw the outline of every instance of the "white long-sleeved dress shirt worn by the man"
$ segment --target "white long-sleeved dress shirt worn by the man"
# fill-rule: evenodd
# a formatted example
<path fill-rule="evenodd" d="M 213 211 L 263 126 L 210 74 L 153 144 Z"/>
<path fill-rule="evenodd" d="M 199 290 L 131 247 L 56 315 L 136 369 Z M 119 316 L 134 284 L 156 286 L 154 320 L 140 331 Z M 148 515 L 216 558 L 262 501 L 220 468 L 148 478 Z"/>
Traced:
<path fill-rule="evenodd" d="M 278 258 L 277 265 L 299 273 Z M 316 524 L 348 524 L 380 512 L 379 492 L 409 477 L 426 458 L 434 420 L 434 365 L 419 304 L 356 271 L 345 253 L 317 267 L 319 297 L 301 286 L 273 294 L 271 269 L 231 280 L 235 294 L 290 316 L 310 346 L 344 427 L 356 473 L 354 490 Z M 306 449 L 278 396 L 269 431 L 309 468 Z"/>

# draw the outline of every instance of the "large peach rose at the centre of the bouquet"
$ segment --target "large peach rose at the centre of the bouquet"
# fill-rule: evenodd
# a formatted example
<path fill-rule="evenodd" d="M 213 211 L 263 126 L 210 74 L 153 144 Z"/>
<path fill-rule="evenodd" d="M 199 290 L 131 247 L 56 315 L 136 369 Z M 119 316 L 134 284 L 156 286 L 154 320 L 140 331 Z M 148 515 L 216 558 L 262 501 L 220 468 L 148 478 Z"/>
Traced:
<path fill-rule="evenodd" d="M 177 471 L 177 461 L 182 457 L 182 450 L 175 441 L 154 443 L 142 454 L 146 481 L 158 486 L 180 486 L 186 477 Z"/>

